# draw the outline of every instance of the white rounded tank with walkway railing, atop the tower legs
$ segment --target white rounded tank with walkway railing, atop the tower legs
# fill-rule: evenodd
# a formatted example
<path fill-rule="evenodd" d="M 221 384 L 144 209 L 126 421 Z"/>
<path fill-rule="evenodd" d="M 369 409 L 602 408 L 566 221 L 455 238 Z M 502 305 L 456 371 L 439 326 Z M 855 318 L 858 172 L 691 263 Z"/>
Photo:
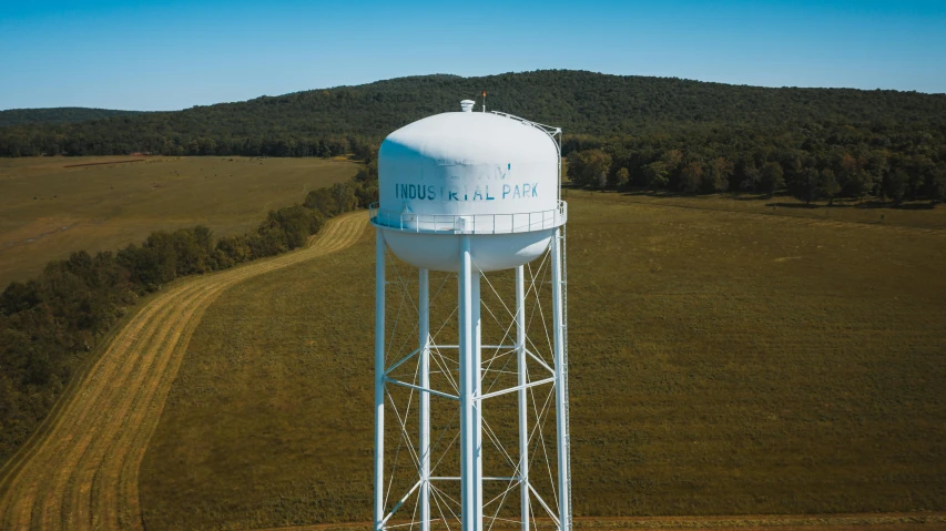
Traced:
<path fill-rule="evenodd" d="M 459 269 L 460 238 L 480 270 L 537 258 L 564 223 L 559 150 L 548 132 L 502 114 L 436 114 L 385 139 L 373 223 L 400 259 Z"/>

